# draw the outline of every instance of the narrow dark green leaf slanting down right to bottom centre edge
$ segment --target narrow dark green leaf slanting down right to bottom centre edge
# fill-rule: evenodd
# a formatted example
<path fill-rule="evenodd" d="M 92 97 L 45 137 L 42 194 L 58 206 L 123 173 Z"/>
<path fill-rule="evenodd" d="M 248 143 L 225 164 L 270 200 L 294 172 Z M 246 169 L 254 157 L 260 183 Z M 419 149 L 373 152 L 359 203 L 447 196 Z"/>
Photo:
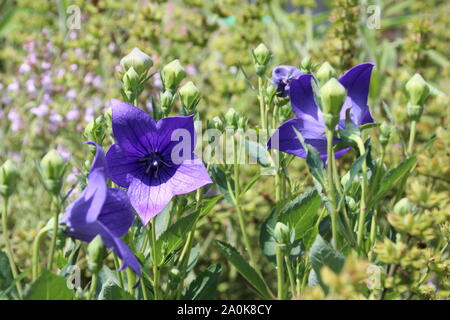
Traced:
<path fill-rule="evenodd" d="M 238 270 L 238 272 L 256 289 L 262 299 L 271 299 L 272 295 L 264 280 L 253 269 L 248 262 L 228 243 L 216 240 L 217 245 L 227 260 Z"/>

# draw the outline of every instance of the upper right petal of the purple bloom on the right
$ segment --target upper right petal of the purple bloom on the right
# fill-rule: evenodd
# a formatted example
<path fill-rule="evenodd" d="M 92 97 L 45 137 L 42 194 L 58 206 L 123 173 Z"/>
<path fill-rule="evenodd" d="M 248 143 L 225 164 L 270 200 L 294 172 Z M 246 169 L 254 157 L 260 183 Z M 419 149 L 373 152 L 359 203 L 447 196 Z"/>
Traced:
<path fill-rule="evenodd" d="M 348 70 L 339 79 L 339 81 L 347 90 L 346 103 L 347 107 L 352 108 L 352 121 L 358 126 L 364 123 L 374 122 L 367 105 L 367 98 L 370 88 L 370 77 L 372 75 L 372 69 L 374 66 L 375 64 L 372 62 L 359 64 Z"/>

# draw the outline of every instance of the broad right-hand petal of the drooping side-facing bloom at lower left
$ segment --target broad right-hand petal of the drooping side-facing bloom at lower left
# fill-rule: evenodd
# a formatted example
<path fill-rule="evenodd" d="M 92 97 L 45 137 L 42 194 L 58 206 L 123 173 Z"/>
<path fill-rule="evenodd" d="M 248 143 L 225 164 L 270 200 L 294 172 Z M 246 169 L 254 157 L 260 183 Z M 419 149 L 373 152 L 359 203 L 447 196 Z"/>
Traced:
<path fill-rule="evenodd" d="M 106 201 L 98 221 L 116 237 L 121 237 L 128 232 L 134 221 L 134 213 L 124 190 L 108 189 Z"/>

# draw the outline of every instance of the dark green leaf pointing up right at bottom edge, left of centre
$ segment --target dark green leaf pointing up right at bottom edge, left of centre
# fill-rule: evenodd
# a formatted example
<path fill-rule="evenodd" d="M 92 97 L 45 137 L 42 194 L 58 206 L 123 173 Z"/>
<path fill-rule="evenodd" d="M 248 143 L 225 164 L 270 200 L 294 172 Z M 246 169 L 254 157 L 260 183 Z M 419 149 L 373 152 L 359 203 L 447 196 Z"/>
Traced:
<path fill-rule="evenodd" d="M 216 295 L 222 267 L 220 264 L 210 266 L 198 275 L 188 286 L 183 299 L 186 300 L 212 300 Z"/>

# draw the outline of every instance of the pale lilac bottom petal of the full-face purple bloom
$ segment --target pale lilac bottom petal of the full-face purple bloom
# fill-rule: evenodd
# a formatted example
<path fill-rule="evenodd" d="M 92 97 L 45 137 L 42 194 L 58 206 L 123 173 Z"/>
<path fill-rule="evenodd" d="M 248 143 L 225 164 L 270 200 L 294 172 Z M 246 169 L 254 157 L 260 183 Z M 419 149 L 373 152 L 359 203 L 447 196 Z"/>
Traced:
<path fill-rule="evenodd" d="M 131 180 L 128 197 L 143 225 L 147 225 L 172 199 L 171 185 L 167 183 L 169 179 L 167 174 L 154 177 L 144 171 L 140 177 Z"/>

